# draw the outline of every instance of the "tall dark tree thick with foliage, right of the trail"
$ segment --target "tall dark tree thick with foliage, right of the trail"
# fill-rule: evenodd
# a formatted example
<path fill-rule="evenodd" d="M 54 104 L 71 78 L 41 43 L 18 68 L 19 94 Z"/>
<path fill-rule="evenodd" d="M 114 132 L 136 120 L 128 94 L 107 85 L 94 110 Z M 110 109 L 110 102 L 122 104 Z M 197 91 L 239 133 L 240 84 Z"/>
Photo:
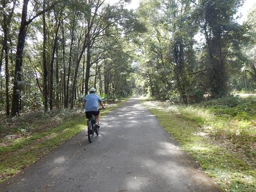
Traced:
<path fill-rule="evenodd" d="M 201 30 L 205 35 L 210 70 L 210 92 L 213 98 L 227 94 L 227 34 L 233 30 L 233 15 L 236 13 L 241 0 L 207 1 L 198 4 L 198 14 L 201 20 Z"/>

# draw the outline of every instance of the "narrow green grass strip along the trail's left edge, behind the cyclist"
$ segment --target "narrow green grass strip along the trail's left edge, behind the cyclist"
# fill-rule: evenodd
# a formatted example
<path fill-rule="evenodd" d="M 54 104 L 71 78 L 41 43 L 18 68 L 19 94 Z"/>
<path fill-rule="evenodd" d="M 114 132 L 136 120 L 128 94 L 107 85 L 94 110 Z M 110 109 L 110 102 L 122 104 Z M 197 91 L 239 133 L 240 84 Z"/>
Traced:
<path fill-rule="evenodd" d="M 101 111 L 101 116 L 105 116 L 109 111 L 122 105 L 124 101 Z M 86 120 L 84 114 L 72 115 L 55 128 L 49 127 L 44 132 L 14 139 L 8 145 L 0 146 L 0 182 L 33 164 L 61 143 L 82 132 L 86 128 Z"/>

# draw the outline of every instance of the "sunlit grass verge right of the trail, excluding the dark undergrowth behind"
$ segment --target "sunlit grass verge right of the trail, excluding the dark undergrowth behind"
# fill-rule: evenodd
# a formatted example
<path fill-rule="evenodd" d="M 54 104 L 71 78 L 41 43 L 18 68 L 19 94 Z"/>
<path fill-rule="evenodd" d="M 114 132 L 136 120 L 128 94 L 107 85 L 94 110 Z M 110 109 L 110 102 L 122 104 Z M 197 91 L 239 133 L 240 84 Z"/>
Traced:
<path fill-rule="evenodd" d="M 256 191 L 254 164 L 251 162 L 249 165 L 241 158 L 247 154 L 246 151 L 239 152 L 242 154 L 235 151 L 240 145 L 238 139 L 245 145 L 253 140 L 255 130 L 250 129 L 250 122 L 215 116 L 209 109 L 198 106 L 170 106 L 169 103 L 154 101 L 144 103 L 180 143 L 180 147 L 193 156 L 222 190 Z M 236 134 L 238 138 L 234 138 Z M 234 147 L 234 151 L 230 151 L 226 142 Z M 253 155 L 248 158 L 252 159 Z"/>

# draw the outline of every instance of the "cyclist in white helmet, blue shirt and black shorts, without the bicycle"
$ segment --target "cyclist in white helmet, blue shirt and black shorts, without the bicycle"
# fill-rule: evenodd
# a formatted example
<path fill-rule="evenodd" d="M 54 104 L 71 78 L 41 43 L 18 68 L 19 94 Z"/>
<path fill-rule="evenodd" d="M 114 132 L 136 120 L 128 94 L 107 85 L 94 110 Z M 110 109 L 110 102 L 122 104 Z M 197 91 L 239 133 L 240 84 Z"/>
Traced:
<path fill-rule="evenodd" d="M 87 94 L 86 97 L 83 100 L 83 104 L 85 105 L 85 115 L 86 118 L 91 118 L 92 115 L 96 116 L 96 125 L 100 127 L 99 121 L 100 121 L 100 110 L 99 105 L 100 103 L 101 107 L 104 109 L 105 105 L 103 104 L 101 98 L 99 95 L 95 94 L 96 90 L 94 87 L 90 89 L 90 94 Z"/>

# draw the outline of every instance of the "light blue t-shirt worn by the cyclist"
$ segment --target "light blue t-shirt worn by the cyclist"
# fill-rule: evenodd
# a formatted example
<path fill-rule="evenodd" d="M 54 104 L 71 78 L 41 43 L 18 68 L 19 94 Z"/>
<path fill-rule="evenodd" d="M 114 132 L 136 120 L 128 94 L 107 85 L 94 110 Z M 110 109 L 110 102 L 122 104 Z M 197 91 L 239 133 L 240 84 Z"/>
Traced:
<path fill-rule="evenodd" d="M 98 111 L 99 102 L 102 102 L 97 94 L 90 93 L 87 94 L 83 100 L 85 102 L 85 111 Z"/>

